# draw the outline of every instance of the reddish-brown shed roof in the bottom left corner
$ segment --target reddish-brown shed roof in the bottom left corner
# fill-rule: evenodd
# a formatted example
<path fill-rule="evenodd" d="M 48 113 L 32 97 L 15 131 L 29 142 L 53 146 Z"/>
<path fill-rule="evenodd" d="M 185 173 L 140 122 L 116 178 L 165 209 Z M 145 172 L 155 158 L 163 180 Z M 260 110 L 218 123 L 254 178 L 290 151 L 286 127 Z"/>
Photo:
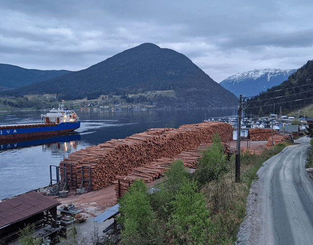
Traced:
<path fill-rule="evenodd" d="M 21 196 L 0 202 L 0 228 L 22 221 L 35 214 L 60 205 L 61 202 L 37 192 L 28 192 Z"/>

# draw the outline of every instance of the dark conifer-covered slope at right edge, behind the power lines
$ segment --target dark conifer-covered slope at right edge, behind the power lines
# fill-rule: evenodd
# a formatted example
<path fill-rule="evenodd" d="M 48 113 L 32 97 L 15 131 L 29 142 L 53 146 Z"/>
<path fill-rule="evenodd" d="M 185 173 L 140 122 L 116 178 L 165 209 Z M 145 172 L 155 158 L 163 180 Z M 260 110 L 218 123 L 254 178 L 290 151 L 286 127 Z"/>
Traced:
<path fill-rule="evenodd" d="M 248 98 L 246 113 L 262 116 L 269 113 L 282 112 L 301 108 L 313 102 L 313 60 L 288 77 L 288 80 L 278 86 L 268 89 L 253 98 Z M 275 111 L 274 111 L 275 103 Z"/>

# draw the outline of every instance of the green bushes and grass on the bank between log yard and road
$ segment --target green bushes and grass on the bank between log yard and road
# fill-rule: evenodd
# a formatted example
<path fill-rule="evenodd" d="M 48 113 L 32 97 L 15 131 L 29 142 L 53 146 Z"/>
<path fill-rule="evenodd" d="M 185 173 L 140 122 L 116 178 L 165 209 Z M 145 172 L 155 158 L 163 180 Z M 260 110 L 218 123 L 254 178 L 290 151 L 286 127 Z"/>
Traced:
<path fill-rule="evenodd" d="M 120 244 L 234 244 L 256 172 L 288 145 L 277 144 L 261 155 L 242 154 L 241 181 L 235 182 L 234 155 L 224 155 L 216 134 L 194 174 L 177 160 L 153 191 L 142 180 L 135 181 L 119 201 Z"/>

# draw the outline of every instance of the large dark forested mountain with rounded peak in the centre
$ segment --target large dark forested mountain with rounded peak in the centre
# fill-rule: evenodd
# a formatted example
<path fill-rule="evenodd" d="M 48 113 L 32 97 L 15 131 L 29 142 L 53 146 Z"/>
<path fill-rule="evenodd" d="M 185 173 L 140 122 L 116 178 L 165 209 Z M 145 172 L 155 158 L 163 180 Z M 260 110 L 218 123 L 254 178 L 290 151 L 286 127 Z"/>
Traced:
<path fill-rule="evenodd" d="M 86 70 L 35 83 L 12 94 L 57 94 L 60 99 L 94 99 L 174 90 L 176 98 L 155 98 L 163 107 L 230 107 L 238 99 L 213 81 L 185 55 L 145 43 L 118 53 Z"/>

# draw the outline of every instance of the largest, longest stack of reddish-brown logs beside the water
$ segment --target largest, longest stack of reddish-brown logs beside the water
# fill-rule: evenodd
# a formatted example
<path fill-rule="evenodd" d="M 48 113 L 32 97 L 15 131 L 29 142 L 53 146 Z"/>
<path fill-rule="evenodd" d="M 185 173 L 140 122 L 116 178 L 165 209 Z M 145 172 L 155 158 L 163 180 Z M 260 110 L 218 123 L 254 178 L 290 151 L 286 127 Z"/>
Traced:
<path fill-rule="evenodd" d="M 203 122 L 174 128 L 154 128 L 121 140 L 86 147 L 68 155 L 63 163 L 71 163 L 81 184 L 81 167 L 90 166 L 91 189 L 97 190 L 112 184 L 115 176 L 127 175 L 134 168 L 150 164 L 154 159 L 173 158 L 182 151 L 212 143 L 214 133 L 223 143 L 232 140 L 233 128 L 228 123 Z M 192 163 L 190 163 L 192 165 Z M 89 179 L 89 174 L 84 177 Z"/>

